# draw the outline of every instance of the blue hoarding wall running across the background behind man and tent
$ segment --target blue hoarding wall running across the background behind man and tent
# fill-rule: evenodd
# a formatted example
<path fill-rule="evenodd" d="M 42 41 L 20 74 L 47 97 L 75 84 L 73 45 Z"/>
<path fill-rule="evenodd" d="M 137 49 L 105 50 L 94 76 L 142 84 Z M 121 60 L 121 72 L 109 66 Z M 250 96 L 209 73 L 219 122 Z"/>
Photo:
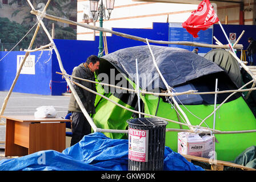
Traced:
<path fill-rule="evenodd" d="M 248 46 L 247 38 L 249 36 L 256 39 L 256 36 L 254 36 L 256 26 L 223 25 L 223 27 L 225 28 L 227 35 L 229 35 L 230 32 L 235 32 L 237 33 L 237 36 L 239 36 L 241 32 L 245 30 L 245 35 L 243 35 L 239 42 L 239 44 L 243 44 L 244 49 Z M 113 28 L 113 31 L 153 40 L 169 40 L 169 23 L 153 23 L 153 29 Z M 213 35 L 223 44 L 227 44 L 227 40 L 218 24 L 214 24 Z M 73 68 L 80 63 L 85 62 L 87 57 L 90 55 L 98 55 L 98 36 L 95 37 L 95 41 L 55 39 L 54 42 L 61 55 L 63 67 L 69 75 L 71 75 Z M 146 45 L 146 43 L 122 38 L 117 35 L 107 36 L 107 48 L 109 53 L 126 47 L 142 45 Z M 151 45 L 168 46 L 167 44 Z M 0 59 L 6 53 L 7 52 L 0 51 Z M 37 61 L 40 54 L 41 51 L 31 53 L 31 55 L 35 55 L 35 61 Z M 1 91 L 9 90 L 15 78 L 15 73 L 17 71 L 17 55 L 25 55 L 25 52 L 10 52 L 5 59 L 0 61 Z M 51 59 L 49 60 L 50 57 Z M 51 55 L 50 51 L 43 51 L 41 58 L 35 64 L 35 75 L 20 75 L 17 84 L 14 87 L 14 92 L 61 95 L 66 92 L 67 84 L 65 79 L 62 79 L 62 76 L 55 72 L 61 72 L 56 53 L 53 51 L 53 54 Z"/>

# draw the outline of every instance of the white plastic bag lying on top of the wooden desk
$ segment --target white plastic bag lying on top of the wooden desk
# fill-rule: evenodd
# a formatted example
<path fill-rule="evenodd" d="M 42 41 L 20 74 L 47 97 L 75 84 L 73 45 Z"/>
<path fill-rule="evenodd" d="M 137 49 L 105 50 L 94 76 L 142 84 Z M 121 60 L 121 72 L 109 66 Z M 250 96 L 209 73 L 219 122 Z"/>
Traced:
<path fill-rule="evenodd" d="M 37 107 L 37 111 L 34 113 L 35 118 L 55 118 L 57 111 L 53 106 L 41 106 Z"/>

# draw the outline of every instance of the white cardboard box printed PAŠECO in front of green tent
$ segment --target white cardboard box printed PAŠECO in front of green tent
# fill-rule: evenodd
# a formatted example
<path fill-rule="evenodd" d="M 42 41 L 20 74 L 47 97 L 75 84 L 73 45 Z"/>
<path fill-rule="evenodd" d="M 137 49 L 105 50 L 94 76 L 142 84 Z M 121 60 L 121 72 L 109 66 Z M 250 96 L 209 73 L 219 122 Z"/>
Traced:
<path fill-rule="evenodd" d="M 215 152 L 215 137 L 195 133 L 178 133 L 178 153 L 210 158 Z"/>

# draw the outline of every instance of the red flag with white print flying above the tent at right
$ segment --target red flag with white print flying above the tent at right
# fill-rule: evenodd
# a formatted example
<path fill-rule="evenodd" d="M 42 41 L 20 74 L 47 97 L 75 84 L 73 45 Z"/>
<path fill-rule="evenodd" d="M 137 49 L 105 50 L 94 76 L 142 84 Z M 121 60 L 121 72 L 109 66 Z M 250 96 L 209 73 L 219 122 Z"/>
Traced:
<path fill-rule="evenodd" d="M 197 33 L 200 30 L 207 30 L 212 24 L 218 22 L 218 16 L 214 13 L 213 6 L 209 0 L 203 0 L 197 7 L 197 10 L 192 11 L 186 22 L 182 23 L 182 27 L 197 38 Z"/>

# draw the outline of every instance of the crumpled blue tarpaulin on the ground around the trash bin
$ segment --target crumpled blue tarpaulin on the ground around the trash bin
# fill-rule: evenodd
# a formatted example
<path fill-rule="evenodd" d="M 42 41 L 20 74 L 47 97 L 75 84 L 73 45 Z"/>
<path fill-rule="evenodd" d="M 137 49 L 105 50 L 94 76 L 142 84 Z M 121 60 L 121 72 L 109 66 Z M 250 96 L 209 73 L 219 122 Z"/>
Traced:
<path fill-rule="evenodd" d="M 182 155 L 165 147 L 165 171 L 202 171 Z M 86 135 L 62 152 L 45 150 L 0 161 L 2 171 L 127 171 L 128 140 L 110 139 L 102 133 Z"/>

